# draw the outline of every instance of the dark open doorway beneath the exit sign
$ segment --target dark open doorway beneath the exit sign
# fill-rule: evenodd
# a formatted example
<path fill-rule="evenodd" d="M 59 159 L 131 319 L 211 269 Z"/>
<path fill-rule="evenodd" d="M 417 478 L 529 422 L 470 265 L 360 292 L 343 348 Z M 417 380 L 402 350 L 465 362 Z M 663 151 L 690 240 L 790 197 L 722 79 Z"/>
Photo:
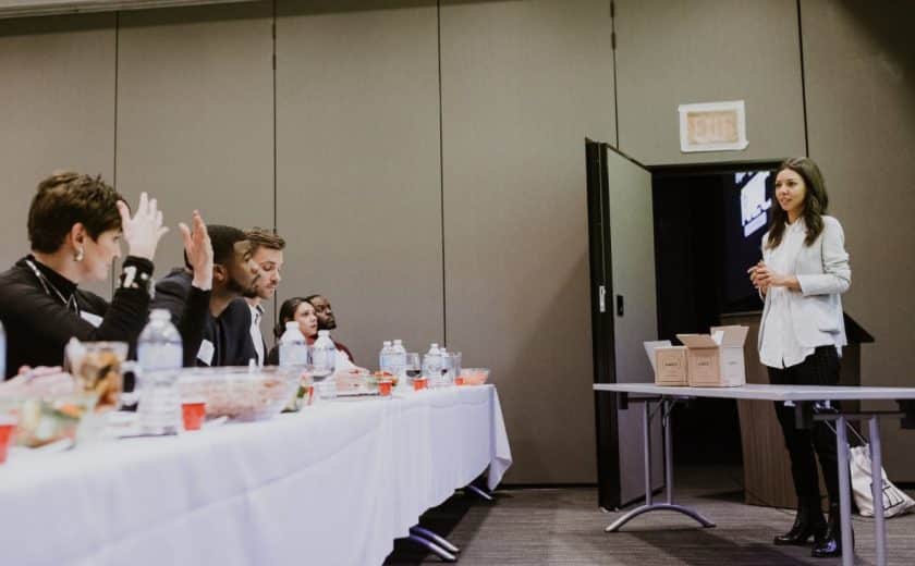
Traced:
<path fill-rule="evenodd" d="M 761 310 L 746 270 L 760 258 L 778 164 L 650 168 L 659 340 L 678 343 L 678 333 L 707 333 L 722 317 Z M 742 463 L 735 401 L 694 399 L 672 433 L 674 462 Z"/>

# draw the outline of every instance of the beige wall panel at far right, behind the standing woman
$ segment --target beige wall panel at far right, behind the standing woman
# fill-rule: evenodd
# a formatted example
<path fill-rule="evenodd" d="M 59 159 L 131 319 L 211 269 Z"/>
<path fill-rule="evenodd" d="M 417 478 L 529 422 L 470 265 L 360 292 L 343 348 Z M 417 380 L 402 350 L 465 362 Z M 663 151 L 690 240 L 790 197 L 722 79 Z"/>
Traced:
<path fill-rule="evenodd" d="M 915 23 L 912 2 L 802 2 L 810 156 L 845 229 L 845 310 L 876 337 L 862 384 L 915 386 Z M 883 421 L 887 472 L 915 481 L 915 431 Z"/>

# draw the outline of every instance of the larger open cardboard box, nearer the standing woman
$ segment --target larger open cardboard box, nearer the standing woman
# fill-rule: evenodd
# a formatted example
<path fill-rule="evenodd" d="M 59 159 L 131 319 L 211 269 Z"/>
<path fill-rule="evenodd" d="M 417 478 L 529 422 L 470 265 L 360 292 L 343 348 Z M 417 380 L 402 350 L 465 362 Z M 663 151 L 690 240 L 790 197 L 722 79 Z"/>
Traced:
<path fill-rule="evenodd" d="M 716 327 L 711 334 L 678 334 L 686 346 L 691 387 L 737 387 L 746 384 L 743 346 L 747 327 Z"/>

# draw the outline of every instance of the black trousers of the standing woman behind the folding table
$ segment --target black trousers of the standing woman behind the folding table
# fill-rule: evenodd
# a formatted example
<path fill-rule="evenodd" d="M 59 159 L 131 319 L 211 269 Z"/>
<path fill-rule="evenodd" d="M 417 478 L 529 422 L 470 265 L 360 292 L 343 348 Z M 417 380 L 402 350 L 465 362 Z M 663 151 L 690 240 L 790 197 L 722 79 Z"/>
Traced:
<path fill-rule="evenodd" d="M 769 381 L 777 385 L 835 385 L 839 383 L 839 353 L 834 346 L 820 346 L 804 361 L 790 368 L 769 368 Z M 837 407 L 835 402 L 832 402 Z M 829 503 L 839 504 L 839 464 L 835 433 L 825 422 L 816 421 L 810 429 L 795 428 L 794 407 L 776 403 L 776 416 L 784 434 L 784 445 L 791 456 L 791 476 L 800 500 L 820 499 L 817 463 L 822 469 Z"/>

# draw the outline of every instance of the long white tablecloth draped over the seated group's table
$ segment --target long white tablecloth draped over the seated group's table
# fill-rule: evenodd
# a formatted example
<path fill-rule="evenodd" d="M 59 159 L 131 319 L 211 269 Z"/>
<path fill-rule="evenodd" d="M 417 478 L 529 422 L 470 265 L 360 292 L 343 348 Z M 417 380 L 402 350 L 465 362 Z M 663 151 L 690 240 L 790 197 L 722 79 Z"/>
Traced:
<path fill-rule="evenodd" d="M 510 465 L 490 385 L 11 458 L 0 564 L 380 564 L 426 509 Z"/>

